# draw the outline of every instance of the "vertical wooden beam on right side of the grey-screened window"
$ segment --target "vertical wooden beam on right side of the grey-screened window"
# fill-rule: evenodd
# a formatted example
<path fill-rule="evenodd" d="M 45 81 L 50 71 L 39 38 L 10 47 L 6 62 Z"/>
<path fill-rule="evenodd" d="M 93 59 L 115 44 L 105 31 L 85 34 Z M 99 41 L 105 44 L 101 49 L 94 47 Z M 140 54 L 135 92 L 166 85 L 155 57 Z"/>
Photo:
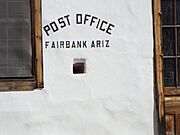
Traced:
<path fill-rule="evenodd" d="M 42 18 L 41 0 L 34 0 L 34 28 L 36 46 L 36 81 L 37 88 L 43 88 L 43 57 L 42 57 Z"/>

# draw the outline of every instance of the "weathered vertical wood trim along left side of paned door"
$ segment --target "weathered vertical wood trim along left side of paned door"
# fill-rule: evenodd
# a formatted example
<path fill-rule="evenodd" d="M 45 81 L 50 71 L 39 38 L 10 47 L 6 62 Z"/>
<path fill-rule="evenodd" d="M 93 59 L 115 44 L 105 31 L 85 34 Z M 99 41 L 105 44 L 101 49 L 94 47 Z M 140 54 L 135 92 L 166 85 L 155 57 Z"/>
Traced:
<path fill-rule="evenodd" d="M 156 85 L 159 101 L 159 118 L 160 121 L 164 117 L 164 90 L 162 76 L 162 54 L 161 54 L 161 0 L 154 0 L 154 40 L 155 40 L 155 70 L 156 70 Z"/>

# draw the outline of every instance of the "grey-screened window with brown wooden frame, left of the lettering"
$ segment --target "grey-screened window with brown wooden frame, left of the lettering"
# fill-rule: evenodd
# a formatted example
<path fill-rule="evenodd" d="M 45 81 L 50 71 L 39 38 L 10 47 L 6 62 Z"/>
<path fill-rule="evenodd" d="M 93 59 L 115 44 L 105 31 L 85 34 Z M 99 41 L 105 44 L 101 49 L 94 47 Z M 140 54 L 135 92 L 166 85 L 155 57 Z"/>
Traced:
<path fill-rule="evenodd" d="M 41 1 L 0 1 L 0 90 L 43 87 Z"/>

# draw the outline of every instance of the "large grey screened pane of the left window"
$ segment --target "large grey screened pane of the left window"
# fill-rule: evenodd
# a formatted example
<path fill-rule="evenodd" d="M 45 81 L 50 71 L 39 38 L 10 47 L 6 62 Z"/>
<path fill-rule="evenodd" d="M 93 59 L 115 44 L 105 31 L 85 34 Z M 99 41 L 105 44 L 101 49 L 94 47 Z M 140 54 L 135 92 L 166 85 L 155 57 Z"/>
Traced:
<path fill-rule="evenodd" d="M 31 77 L 30 0 L 1 0 L 1 10 L 0 77 Z"/>

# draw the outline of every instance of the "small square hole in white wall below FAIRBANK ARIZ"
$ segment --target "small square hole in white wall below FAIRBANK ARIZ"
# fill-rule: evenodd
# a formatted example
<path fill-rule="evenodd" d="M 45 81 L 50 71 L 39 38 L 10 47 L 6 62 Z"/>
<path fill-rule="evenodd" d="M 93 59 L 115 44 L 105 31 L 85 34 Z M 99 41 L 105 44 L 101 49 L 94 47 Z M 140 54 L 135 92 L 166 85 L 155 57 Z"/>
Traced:
<path fill-rule="evenodd" d="M 84 74 L 86 73 L 86 59 L 74 59 L 73 60 L 73 74 Z"/>

